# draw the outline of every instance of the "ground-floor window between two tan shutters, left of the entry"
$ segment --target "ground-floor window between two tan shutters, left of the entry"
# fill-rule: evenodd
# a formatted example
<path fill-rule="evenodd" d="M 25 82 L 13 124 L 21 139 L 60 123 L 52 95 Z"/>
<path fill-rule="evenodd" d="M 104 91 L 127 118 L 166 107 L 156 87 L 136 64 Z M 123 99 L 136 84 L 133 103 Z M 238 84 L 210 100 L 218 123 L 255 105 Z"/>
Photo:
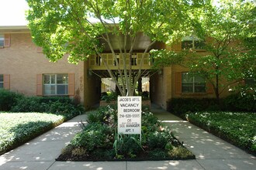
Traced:
<path fill-rule="evenodd" d="M 44 95 L 67 95 L 68 76 L 67 74 L 44 74 L 43 75 Z"/>

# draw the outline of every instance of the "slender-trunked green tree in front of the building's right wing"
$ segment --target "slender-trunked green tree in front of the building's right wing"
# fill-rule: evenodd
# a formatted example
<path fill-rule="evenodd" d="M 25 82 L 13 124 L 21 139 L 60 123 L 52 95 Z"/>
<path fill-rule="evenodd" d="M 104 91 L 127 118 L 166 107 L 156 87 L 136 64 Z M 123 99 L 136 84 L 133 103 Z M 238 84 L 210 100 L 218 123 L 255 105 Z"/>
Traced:
<path fill-rule="evenodd" d="M 205 40 L 206 53 L 194 49 L 174 53 L 154 51 L 159 66 L 180 64 L 200 73 L 212 85 L 219 100 L 232 84 L 256 73 L 256 4 L 250 1 L 225 0 L 197 9 L 197 25 L 187 36 Z"/>

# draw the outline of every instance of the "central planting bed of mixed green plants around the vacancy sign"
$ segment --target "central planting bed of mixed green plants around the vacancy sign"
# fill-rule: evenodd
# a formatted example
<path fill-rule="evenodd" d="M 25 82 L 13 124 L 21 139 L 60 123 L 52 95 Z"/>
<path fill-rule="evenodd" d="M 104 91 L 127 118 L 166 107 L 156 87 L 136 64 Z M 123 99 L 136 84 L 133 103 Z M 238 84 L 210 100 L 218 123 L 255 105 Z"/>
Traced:
<path fill-rule="evenodd" d="M 63 149 L 57 161 L 141 161 L 195 158 L 173 137 L 170 129 L 149 111 L 142 114 L 142 138 L 117 134 L 116 108 L 107 106 L 88 114 L 83 126 Z"/>

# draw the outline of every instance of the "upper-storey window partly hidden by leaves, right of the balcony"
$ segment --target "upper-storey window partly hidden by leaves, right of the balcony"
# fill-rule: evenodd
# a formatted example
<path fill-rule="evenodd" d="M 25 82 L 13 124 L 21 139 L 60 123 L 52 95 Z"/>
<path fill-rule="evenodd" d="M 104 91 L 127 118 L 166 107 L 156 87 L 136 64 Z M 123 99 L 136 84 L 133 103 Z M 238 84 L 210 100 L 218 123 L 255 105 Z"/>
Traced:
<path fill-rule="evenodd" d="M 196 36 L 185 36 L 182 39 L 182 49 L 204 49 L 205 41 Z"/>

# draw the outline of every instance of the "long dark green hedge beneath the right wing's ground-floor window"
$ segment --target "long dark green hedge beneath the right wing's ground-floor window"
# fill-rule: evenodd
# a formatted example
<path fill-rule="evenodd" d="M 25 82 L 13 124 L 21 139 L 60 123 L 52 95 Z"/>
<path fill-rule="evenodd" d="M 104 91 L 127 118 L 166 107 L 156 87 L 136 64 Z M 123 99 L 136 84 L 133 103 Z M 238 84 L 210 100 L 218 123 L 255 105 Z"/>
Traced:
<path fill-rule="evenodd" d="M 168 100 L 168 111 L 185 117 L 189 112 L 204 110 L 256 111 L 256 91 L 232 93 L 228 97 L 215 98 L 173 98 Z"/>

